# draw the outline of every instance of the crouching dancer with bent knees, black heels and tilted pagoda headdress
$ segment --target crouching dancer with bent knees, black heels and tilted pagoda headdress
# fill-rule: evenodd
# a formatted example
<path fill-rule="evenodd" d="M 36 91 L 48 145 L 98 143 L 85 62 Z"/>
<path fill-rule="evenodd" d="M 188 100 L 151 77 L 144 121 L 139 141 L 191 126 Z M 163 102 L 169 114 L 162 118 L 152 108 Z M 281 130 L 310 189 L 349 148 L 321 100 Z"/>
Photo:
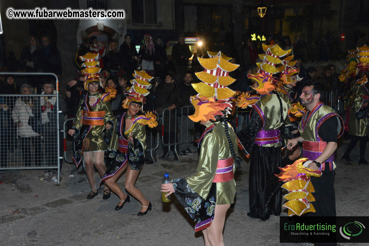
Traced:
<path fill-rule="evenodd" d="M 120 198 L 120 202 L 115 210 L 120 210 L 126 202 L 130 202 L 130 196 L 123 193 L 116 180 L 127 168 L 125 175 L 125 189 L 141 203 L 141 211 L 137 215 L 145 215 L 151 210 L 151 202 L 146 200 L 141 191 L 134 186 L 139 170 L 144 164 L 146 151 L 146 131 L 145 125 L 153 128 L 158 125 L 156 116 L 147 112 L 146 115 L 137 115 L 142 110 L 149 94 L 153 77 L 144 71 L 135 71 L 132 86 L 127 88 L 127 98 L 123 102 L 123 107 L 127 112 L 122 112 L 116 116 L 116 123 L 111 138 L 111 146 L 114 151 L 109 153 L 111 161 L 107 163 L 107 170 L 101 179 Z"/>

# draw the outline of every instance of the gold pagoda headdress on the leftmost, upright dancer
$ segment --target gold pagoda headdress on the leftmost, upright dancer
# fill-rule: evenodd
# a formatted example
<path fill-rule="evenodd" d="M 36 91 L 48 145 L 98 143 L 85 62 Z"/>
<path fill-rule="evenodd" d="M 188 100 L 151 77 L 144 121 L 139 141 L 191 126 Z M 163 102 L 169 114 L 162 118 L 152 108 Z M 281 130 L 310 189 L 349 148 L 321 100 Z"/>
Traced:
<path fill-rule="evenodd" d="M 99 54 L 96 53 L 87 53 L 86 55 L 80 56 L 79 59 L 81 59 L 83 61 L 82 63 L 82 67 L 85 67 L 84 69 L 81 70 L 82 75 L 85 76 L 85 82 L 83 83 L 85 90 L 88 90 L 88 85 L 91 82 L 99 82 L 100 86 L 102 88 L 104 88 L 103 84 L 101 83 L 101 79 L 99 76 L 100 67 L 96 67 L 99 66 L 99 62 L 97 60 L 99 60 Z"/>

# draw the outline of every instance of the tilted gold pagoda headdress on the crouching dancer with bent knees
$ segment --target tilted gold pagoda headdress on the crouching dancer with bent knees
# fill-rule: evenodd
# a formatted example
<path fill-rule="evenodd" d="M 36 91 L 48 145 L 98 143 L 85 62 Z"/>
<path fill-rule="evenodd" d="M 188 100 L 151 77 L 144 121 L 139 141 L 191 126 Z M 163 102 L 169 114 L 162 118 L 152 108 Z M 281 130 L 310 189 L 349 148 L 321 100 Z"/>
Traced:
<path fill-rule="evenodd" d="M 145 71 L 136 71 L 133 74 L 134 79 L 131 80 L 131 87 L 127 88 L 127 98 L 123 101 L 123 108 L 128 108 L 128 105 L 132 102 L 138 102 L 144 104 L 146 102 L 145 96 L 150 92 L 148 91 L 152 84 L 149 83 L 154 77 L 148 75 Z"/>

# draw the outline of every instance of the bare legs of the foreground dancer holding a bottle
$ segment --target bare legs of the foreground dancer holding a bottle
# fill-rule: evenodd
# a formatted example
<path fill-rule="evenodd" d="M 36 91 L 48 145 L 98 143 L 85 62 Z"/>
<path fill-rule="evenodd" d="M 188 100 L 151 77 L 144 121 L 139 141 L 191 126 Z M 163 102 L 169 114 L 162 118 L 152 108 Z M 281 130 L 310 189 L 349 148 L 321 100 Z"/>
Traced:
<path fill-rule="evenodd" d="M 211 225 L 205 229 L 207 233 L 208 242 L 210 242 L 211 246 L 224 246 L 223 228 L 225 214 L 227 213 L 227 210 L 230 207 L 231 207 L 230 204 L 215 205 L 214 219 L 211 222 Z"/>

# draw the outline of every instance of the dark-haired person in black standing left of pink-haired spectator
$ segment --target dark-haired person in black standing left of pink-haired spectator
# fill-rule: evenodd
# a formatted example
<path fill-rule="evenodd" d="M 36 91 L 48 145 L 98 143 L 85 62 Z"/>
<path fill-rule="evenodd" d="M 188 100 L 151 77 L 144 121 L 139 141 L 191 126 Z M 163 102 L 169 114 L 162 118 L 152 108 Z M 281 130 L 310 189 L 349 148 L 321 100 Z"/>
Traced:
<path fill-rule="evenodd" d="M 139 59 L 136 47 L 132 44 L 131 40 L 131 35 L 126 34 L 124 36 L 124 42 L 120 46 L 120 55 L 124 60 L 124 71 L 127 79 L 132 79 L 132 73 L 134 73 Z"/>

